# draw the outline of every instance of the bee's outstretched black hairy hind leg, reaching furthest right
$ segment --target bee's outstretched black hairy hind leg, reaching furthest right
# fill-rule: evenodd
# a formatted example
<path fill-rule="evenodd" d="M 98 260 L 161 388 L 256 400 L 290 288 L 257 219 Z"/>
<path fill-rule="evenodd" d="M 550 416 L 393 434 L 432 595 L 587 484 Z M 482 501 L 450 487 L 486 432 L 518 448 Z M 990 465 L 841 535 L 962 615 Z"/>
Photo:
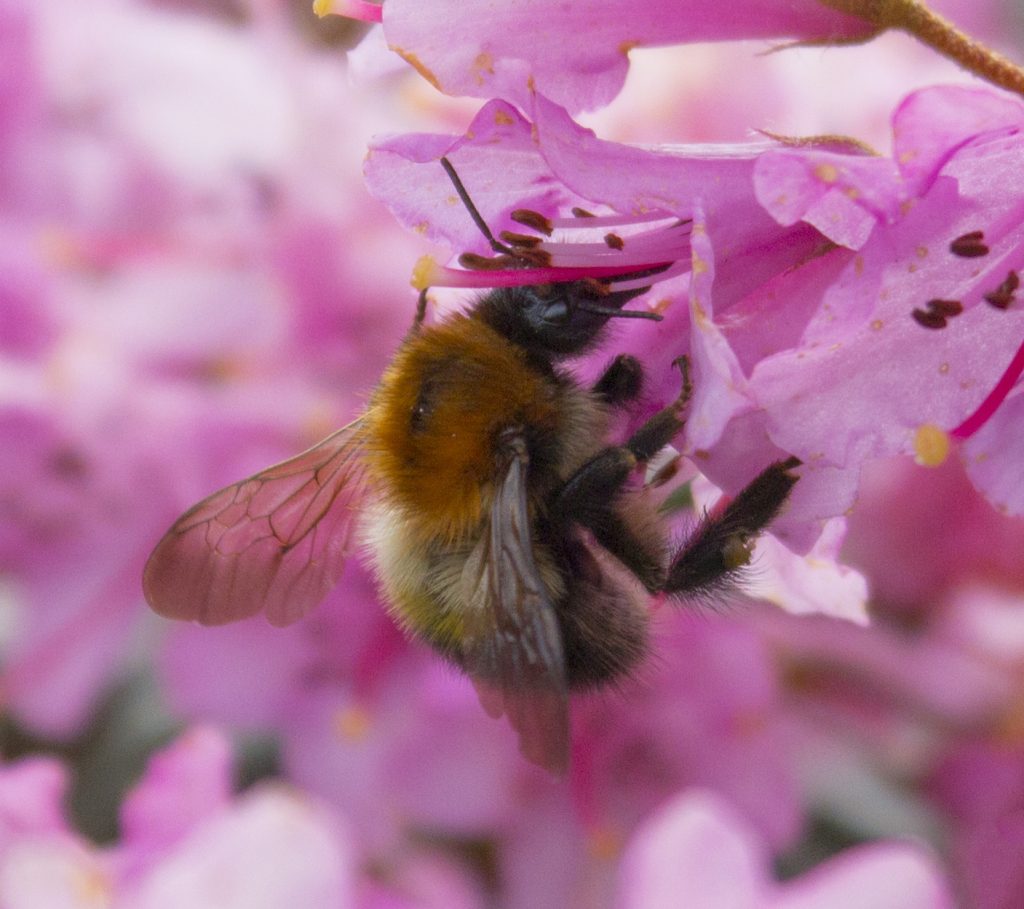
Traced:
<path fill-rule="evenodd" d="M 774 520 L 798 480 L 790 471 L 799 466 L 797 458 L 775 462 L 721 514 L 706 516 L 669 563 L 664 592 L 699 596 L 748 565 L 755 538 Z"/>

